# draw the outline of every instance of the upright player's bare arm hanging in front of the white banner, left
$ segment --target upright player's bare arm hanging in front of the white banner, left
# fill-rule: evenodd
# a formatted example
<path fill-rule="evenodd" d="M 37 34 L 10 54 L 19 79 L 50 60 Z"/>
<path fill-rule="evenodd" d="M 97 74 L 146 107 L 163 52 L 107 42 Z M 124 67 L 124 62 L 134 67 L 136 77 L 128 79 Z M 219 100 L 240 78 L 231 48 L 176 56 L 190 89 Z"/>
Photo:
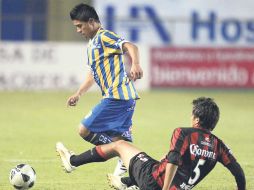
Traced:
<path fill-rule="evenodd" d="M 80 96 L 84 94 L 94 83 L 92 72 L 88 72 L 85 81 L 80 85 L 78 91 L 67 100 L 68 106 L 76 106 Z"/>

